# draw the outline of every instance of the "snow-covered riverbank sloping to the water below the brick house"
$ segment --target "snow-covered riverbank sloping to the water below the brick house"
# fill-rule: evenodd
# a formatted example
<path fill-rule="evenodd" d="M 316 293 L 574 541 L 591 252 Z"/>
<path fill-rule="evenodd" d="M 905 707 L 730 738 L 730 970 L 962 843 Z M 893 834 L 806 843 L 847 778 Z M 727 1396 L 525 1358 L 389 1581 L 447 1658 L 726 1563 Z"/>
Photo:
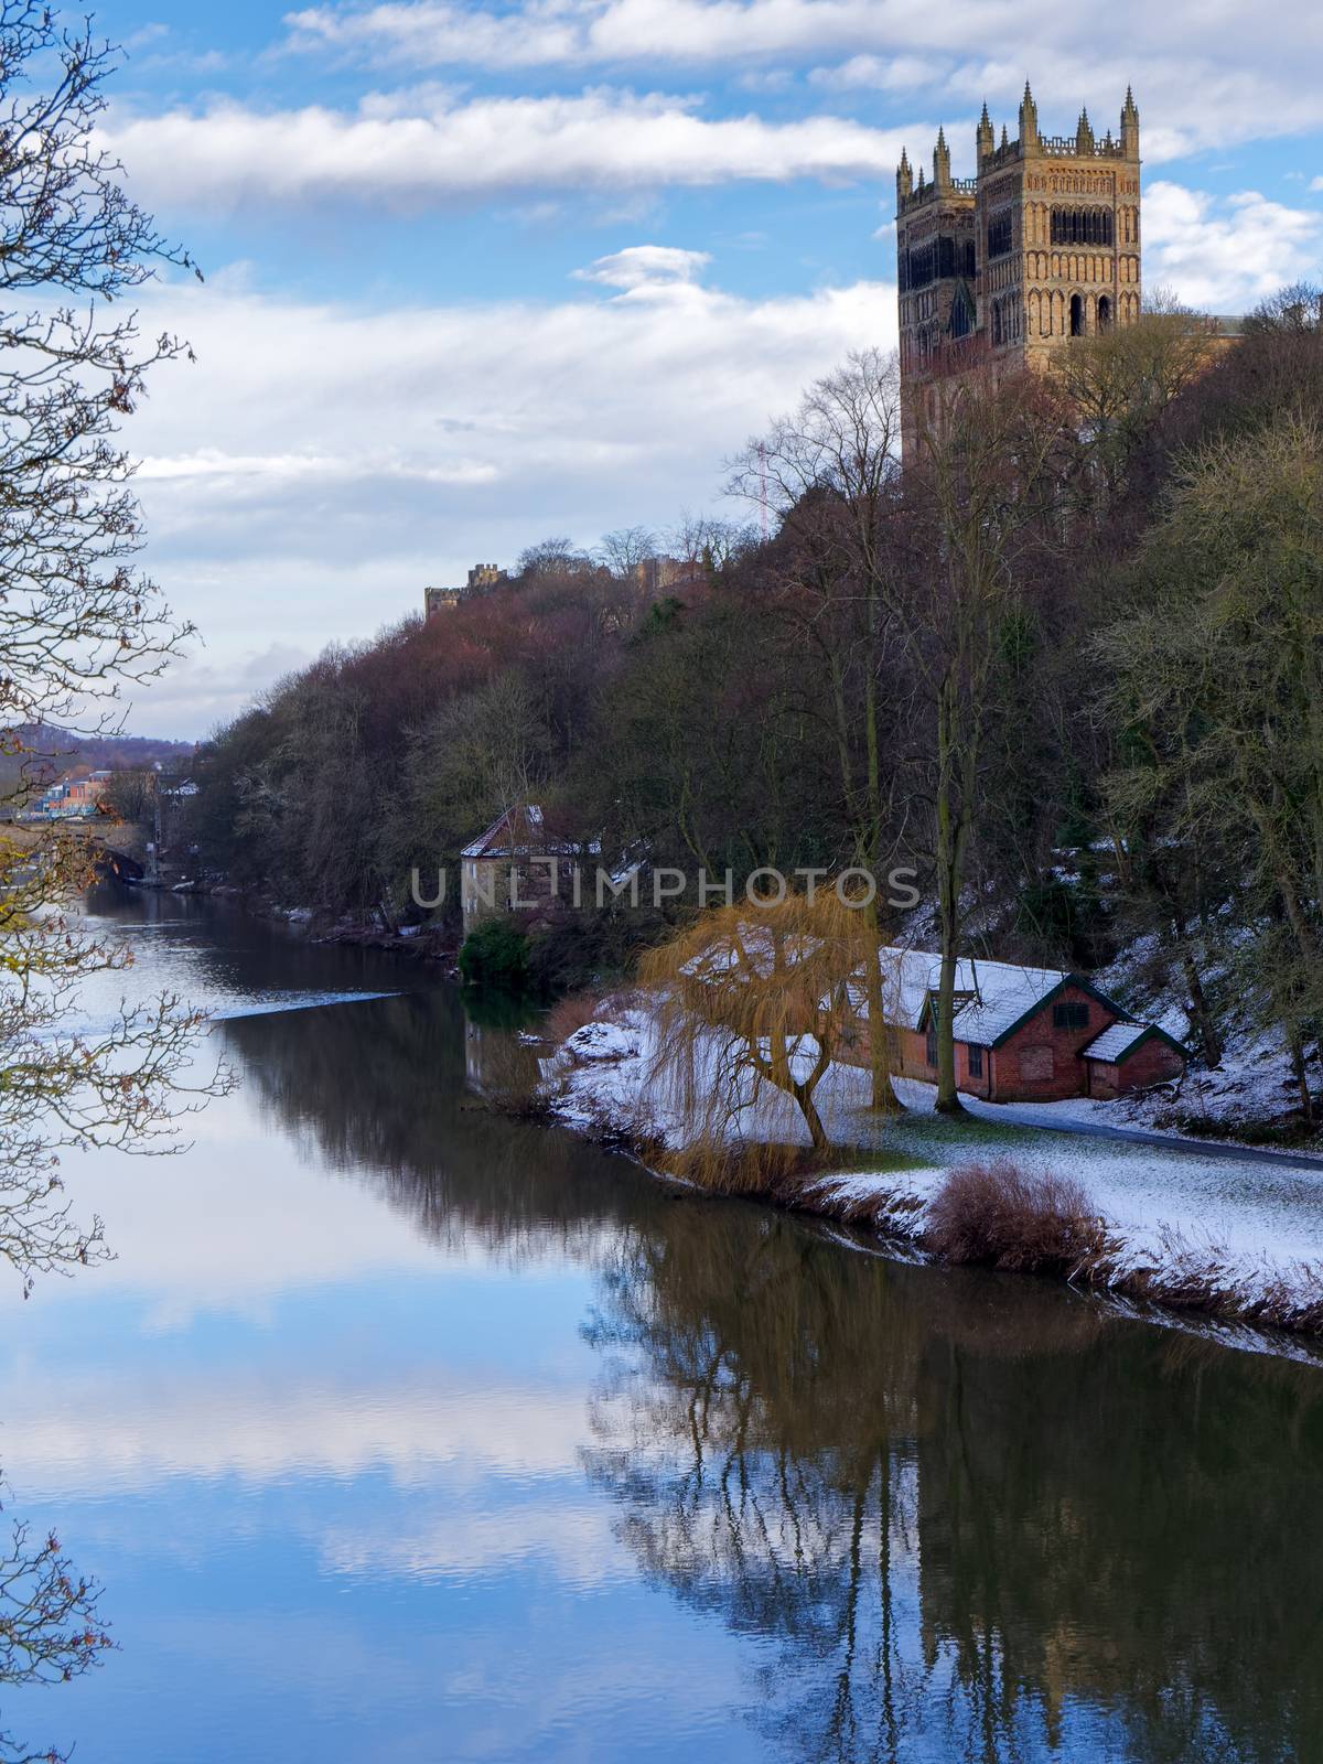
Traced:
<path fill-rule="evenodd" d="M 609 1005 L 543 1062 L 550 1111 L 593 1136 L 623 1140 L 646 1159 L 683 1147 L 684 1120 L 656 1076 L 656 1051 L 644 1005 Z M 933 1111 L 931 1087 L 898 1080 L 896 1090 L 905 1113 L 880 1120 L 868 1110 L 868 1074 L 829 1069 L 818 1106 L 833 1143 L 852 1148 L 856 1168 L 808 1178 L 792 1205 L 923 1240 L 930 1205 L 951 1170 L 1011 1159 L 1025 1173 L 1069 1175 L 1085 1187 L 1110 1251 L 1081 1267 L 1078 1279 L 1134 1298 L 1323 1332 L 1318 1161 L 1043 1131 L 1062 1104 L 1035 1110 L 1046 1117 L 1039 1122 L 1023 1118 L 1020 1108 L 967 1099 L 970 1115 L 949 1120 Z M 1115 1122 L 1113 1104 L 1071 1108 L 1076 1122 L 1088 1111 Z M 808 1145 L 792 1099 L 766 1087 L 732 1111 L 730 1134 L 732 1141 Z"/>

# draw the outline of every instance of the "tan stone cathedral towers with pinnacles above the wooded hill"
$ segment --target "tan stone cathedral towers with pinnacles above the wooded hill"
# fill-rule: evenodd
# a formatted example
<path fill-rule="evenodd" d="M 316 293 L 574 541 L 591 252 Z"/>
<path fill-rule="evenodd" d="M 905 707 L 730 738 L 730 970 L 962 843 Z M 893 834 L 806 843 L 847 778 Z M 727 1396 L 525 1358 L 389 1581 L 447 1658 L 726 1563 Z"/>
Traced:
<path fill-rule="evenodd" d="M 1071 337 L 1140 316 L 1140 113 L 1097 139 L 1039 134 L 1025 85 L 1020 132 L 995 139 L 988 106 L 975 176 L 953 178 L 938 129 L 931 183 L 905 152 L 896 168 L 896 270 L 905 441 L 937 420 L 937 386 L 974 360 L 1041 367 Z"/>

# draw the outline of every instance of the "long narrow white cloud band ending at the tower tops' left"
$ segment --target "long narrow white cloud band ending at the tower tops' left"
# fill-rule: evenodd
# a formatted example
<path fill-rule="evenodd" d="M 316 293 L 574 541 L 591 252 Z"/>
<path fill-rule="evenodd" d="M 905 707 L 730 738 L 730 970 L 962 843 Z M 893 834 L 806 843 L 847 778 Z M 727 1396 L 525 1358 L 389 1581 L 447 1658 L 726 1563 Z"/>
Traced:
<path fill-rule="evenodd" d="M 665 93 L 459 102 L 427 92 L 415 102 L 411 113 L 372 101 L 355 113 L 220 102 L 113 118 L 102 143 L 127 166 L 136 198 L 192 210 L 328 199 L 423 206 L 534 189 L 889 178 L 901 148 L 898 131 L 847 118 L 704 118 L 697 101 Z"/>

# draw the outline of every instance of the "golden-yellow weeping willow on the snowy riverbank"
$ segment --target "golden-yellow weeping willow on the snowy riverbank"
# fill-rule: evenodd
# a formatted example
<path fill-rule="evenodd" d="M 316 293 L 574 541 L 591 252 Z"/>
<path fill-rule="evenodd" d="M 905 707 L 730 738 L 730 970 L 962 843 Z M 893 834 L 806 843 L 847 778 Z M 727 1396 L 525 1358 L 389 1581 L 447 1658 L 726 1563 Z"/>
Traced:
<path fill-rule="evenodd" d="M 639 977 L 656 997 L 653 1087 L 684 1124 L 688 1173 L 720 1180 L 739 1152 L 746 1180 L 766 1175 L 774 1147 L 759 1111 L 769 1097 L 789 1101 L 811 1148 L 827 1150 L 818 1087 L 833 1060 L 863 1050 L 868 961 L 870 917 L 836 889 L 714 907 L 642 958 Z"/>

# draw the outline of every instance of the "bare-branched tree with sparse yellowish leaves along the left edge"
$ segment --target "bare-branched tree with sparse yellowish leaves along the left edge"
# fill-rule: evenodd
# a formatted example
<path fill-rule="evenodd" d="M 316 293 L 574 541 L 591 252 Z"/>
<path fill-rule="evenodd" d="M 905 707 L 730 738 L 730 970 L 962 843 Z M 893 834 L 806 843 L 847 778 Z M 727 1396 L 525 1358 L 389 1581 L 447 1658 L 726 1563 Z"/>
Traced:
<path fill-rule="evenodd" d="M 0 4 L 0 746 L 26 776 L 71 736 L 115 730 L 123 695 L 189 635 L 134 568 L 118 441 L 148 372 L 183 349 L 143 339 L 123 300 L 187 259 L 95 145 L 115 60 L 86 25 Z M 0 838 L 0 1258 L 30 1286 L 102 1252 L 99 1222 L 64 1201 L 62 1155 L 161 1148 L 198 1101 L 182 1094 L 198 1018 L 166 997 L 71 1027 L 79 983 L 129 958 L 65 914 L 85 848 L 25 833 Z"/>

